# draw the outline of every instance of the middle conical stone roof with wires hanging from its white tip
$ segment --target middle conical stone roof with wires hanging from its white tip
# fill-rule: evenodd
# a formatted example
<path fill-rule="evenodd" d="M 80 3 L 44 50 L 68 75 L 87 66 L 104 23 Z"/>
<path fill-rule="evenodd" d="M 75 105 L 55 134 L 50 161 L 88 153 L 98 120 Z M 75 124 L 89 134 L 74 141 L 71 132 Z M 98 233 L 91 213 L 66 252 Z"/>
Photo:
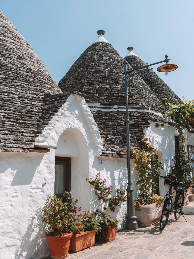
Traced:
<path fill-rule="evenodd" d="M 62 92 L 79 91 L 87 103 L 125 105 L 125 61 L 103 35 L 89 46 L 59 81 Z M 162 112 L 165 108 L 146 83 L 135 76 L 129 105 Z"/>

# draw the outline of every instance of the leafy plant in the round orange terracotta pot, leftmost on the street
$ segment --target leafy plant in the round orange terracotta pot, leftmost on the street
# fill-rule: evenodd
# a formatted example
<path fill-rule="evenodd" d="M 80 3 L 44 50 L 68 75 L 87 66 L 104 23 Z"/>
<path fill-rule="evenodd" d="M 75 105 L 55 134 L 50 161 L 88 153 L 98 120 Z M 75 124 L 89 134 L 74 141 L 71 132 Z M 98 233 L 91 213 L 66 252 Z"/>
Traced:
<path fill-rule="evenodd" d="M 48 241 L 51 257 L 54 259 L 66 258 L 68 256 L 70 238 L 72 237 L 71 227 L 74 223 L 73 215 L 76 214 L 78 199 L 74 201 L 71 192 L 64 192 L 62 198 L 47 196 L 41 215 L 42 222 L 46 222 L 48 232 L 45 233 Z"/>

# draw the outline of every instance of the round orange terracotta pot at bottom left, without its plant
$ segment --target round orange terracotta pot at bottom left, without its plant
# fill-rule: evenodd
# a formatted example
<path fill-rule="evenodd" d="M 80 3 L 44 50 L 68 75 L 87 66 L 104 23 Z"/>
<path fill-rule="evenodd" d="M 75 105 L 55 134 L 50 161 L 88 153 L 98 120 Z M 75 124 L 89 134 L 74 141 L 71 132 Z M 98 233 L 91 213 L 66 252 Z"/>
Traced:
<path fill-rule="evenodd" d="M 51 258 L 64 259 L 68 256 L 70 238 L 72 232 L 65 234 L 61 237 L 50 237 L 45 234 L 46 240 L 49 245 Z"/>

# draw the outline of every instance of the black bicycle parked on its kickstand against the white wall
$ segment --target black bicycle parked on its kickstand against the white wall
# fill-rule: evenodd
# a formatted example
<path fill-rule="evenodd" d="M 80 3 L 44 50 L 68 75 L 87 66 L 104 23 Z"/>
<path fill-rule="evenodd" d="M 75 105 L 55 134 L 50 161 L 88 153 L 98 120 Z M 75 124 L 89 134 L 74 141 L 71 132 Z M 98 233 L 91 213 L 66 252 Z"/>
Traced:
<path fill-rule="evenodd" d="M 164 178 L 164 184 L 169 186 L 169 191 L 165 195 L 166 199 L 164 200 L 162 216 L 160 218 L 159 229 L 163 230 L 167 224 L 169 215 L 172 214 L 172 212 L 174 212 L 176 220 L 178 220 L 181 215 L 183 216 L 184 212 L 182 211 L 182 207 L 184 206 L 184 203 L 186 203 L 184 202 L 184 200 L 186 198 L 186 195 L 188 196 L 187 189 L 189 188 L 189 185 L 191 183 L 189 182 L 188 184 L 186 184 L 183 181 L 177 181 L 176 177 L 171 174 L 168 174 L 167 176 L 160 176 L 160 178 Z M 172 190 L 176 191 L 174 204 L 172 204 Z M 186 220 L 185 217 L 184 219 Z"/>

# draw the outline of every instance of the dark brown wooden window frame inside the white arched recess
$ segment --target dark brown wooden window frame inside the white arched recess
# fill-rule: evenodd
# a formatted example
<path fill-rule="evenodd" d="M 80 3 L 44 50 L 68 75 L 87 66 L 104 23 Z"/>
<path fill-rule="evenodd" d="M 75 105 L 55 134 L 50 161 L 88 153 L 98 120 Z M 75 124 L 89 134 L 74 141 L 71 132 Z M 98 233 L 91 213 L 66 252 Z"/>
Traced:
<path fill-rule="evenodd" d="M 63 164 L 64 166 L 67 166 L 67 179 L 66 179 L 66 187 L 63 185 L 63 191 L 65 189 L 67 191 L 71 191 L 71 158 L 70 157 L 55 157 L 55 165 L 57 164 Z M 63 197 L 63 193 L 59 193 L 55 195 L 60 198 Z"/>

